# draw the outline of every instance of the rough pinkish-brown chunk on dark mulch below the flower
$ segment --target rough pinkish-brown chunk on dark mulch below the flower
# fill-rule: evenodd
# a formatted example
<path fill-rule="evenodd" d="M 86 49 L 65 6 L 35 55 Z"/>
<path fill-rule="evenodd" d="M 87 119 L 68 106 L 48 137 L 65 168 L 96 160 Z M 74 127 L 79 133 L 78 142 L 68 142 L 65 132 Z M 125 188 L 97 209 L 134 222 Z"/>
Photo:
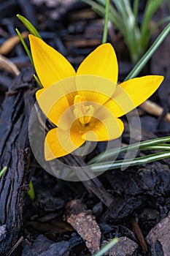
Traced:
<path fill-rule="evenodd" d="M 101 230 L 95 217 L 86 209 L 80 200 L 72 200 L 66 204 L 66 221 L 85 241 L 91 254 L 98 251 L 101 240 Z"/>

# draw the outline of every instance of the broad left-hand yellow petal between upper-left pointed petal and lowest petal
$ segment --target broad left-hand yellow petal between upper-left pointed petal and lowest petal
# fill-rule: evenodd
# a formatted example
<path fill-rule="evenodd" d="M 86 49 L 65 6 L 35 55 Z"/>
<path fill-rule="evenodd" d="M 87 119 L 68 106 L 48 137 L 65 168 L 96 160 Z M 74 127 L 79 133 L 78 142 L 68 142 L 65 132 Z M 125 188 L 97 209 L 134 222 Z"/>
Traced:
<path fill-rule="evenodd" d="M 74 113 L 70 107 L 74 103 L 74 78 L 67 78 L 47 89 L 36 91 L 36 99 L 45 116 L 61 129 L 69 129 Z"/>

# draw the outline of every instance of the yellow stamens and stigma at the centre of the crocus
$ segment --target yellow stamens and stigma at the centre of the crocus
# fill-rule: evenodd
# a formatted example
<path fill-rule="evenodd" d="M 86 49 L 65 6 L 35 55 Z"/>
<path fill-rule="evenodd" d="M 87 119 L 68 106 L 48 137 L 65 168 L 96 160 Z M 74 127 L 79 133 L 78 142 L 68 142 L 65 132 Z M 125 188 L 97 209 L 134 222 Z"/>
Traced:
<path fill-rule="evenodd" d="M 90 122 L 93 113 L 93 106 L 85 106 L 85 97 L 77 94 L 74 97 L 74 116 L 79 119 L 81 124 L 87 125 Z"/>

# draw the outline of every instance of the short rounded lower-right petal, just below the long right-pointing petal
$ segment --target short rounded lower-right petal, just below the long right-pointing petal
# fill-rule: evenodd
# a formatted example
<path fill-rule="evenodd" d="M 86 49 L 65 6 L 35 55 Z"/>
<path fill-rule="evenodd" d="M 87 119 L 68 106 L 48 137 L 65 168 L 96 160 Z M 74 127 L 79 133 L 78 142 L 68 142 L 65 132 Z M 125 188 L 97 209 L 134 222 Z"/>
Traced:
<path fill-rule="evenodd" d="M 96 125 L 89 132 L 85 133 L 82 138 L 89 141 L 115 140 L 123 133 L 123 122 L 118 118 L 106 118 L 97 121 Z"/>

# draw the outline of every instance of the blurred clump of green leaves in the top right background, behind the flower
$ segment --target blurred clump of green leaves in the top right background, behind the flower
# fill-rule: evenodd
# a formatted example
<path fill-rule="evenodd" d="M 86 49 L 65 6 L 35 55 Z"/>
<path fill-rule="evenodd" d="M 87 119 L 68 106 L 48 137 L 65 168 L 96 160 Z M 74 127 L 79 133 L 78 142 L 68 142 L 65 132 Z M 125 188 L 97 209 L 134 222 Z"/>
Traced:
<path fill-rule="evenodd" d="M 104 17 L 106 0 L 82 0 L 90 4 L 93 10 Z M 151 37 L 150 20 L 161 6 L 163 0 L 148 0 L 144 9 L 142 25 L 138 25 L 139 0 L 112 0 L 110 4 L 109 20 L 120 30 L 128 47 L 131 61 L 136 63 L 148 48 Z"/>

